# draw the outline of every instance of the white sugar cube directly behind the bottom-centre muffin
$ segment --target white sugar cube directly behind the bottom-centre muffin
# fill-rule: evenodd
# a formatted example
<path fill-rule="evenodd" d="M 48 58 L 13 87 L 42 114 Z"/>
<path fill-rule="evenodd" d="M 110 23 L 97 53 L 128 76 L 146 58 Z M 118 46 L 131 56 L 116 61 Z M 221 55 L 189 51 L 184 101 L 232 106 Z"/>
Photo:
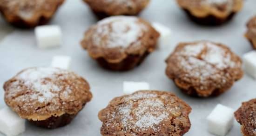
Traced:
<path fill-rule="evenodd" d="M 140 90 L 149 90 L 149 84 L 147 82 L 123 82 L 124 94 L 132 94 Z"/>

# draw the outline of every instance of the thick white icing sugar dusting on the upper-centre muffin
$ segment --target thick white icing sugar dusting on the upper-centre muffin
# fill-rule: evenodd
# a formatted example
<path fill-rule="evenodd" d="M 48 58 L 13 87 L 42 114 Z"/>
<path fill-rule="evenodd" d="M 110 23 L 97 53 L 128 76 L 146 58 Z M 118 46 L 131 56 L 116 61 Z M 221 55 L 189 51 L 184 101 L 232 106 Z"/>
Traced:
<path fill-rule="evenodd" d="M 92 38 L 96 45 L 108 48 L 129 45 L 141 45 L 138 39 L 142 37 L 147 27 L 136 17 L 115 16 L 101 20 L 95 27 Z"/>

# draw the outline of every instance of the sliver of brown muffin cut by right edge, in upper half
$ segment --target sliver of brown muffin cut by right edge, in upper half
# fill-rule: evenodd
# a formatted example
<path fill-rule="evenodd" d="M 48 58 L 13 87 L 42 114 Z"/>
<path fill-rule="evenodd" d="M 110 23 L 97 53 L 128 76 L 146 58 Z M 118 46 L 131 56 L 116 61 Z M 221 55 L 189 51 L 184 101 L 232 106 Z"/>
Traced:
<path fill-rule="evenodd" d="M 254 49 L 256 49 L 256 16 L 250 19 L 247 24 L 248 30 L 245 37 L 249 39 Z"/>

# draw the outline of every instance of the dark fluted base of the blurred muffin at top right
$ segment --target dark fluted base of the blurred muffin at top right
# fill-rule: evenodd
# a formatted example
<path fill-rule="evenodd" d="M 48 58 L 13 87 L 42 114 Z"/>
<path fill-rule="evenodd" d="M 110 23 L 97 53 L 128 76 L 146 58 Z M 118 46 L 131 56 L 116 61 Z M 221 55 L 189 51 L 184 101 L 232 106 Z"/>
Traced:
<path fill-rule="evenodd" d="M 198 18 L 195 17 L 194 15 L 192 15 L 189 10 L 187 9 L 183 9 L 187 15 L 189 16 L 189 18 L 200 25 L 205 25 L 205 26 L 218 26 L 218 25 L 222 25 L 226 22 L 228 22 L 229 20 L 231 20 L 234 16 L 235 16 L 235 12 L 231 13 L 227 18 L 218 18 L 214 15 L 209 15 L 203 18 Z"/>

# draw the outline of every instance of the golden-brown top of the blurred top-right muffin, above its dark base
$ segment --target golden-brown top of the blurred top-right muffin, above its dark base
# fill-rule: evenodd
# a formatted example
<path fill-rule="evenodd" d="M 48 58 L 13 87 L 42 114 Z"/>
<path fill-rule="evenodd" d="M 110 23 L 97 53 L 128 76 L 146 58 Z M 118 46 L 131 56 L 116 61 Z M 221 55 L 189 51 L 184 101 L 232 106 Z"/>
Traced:
<path fill-rule="evenodd" d="M 243 0 L 177 0 L 177 2 L 196 17 L 214 15 L 226 18 L 243 7 Z"/>

